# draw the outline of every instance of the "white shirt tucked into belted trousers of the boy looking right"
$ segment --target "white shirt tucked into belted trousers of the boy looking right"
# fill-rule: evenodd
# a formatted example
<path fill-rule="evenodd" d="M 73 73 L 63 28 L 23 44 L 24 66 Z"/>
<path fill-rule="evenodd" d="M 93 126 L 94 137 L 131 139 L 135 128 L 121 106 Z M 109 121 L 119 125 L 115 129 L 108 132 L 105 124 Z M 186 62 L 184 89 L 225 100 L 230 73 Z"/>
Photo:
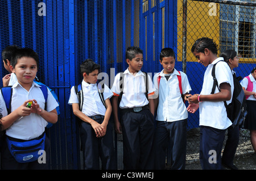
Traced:
<path fill-rule="evenodd" d="M 114 95 L 119 95 L 121 93 L 120 85 L 120 73 L 115 75 L 114 83 L 112 86 L 112 92 Z M 148 78 L 148 94 L 154 94 L 155 88 L 152 85 L 152 80 L 150 76 Z M 134 76 L 130 73 L 128 69 L 123 72 L 123 95 L 120 102 L 120 108 L 133 108 L 133 107 L 143 107 L 149 102 L 146 98 L 146 75 L 139 70 Z"/>

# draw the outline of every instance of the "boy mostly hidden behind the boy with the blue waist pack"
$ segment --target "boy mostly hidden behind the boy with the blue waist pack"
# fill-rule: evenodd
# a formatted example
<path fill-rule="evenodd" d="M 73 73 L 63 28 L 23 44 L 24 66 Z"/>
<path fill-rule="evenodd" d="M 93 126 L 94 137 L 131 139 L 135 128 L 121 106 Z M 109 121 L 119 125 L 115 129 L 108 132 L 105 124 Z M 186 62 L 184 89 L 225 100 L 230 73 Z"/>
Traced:
<path fill-rule="evenodd" d="M 16 76 L 15 74 L 11 72 L 10 66 L 11 66 L 11 60 L 14 56 L 14 52 L 18 49 L 16 45 L 10 45 L 3 49 L 2 51 L 2 58 L 3 58 L 3 66 L 5 69 L 9 72 L 9 74 L 5 75 L 2 78 L 3 81 L 3 87 L 10 85 L 11 82 L 16 82 Z M 12 84 L 11 84 L 12 85 Z"/>

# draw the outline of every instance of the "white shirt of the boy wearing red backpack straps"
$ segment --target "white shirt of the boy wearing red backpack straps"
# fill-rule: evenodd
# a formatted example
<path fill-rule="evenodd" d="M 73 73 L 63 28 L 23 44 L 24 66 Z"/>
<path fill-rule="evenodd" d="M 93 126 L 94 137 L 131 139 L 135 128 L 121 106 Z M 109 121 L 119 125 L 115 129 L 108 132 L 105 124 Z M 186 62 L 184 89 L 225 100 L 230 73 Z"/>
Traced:
<path fill-rule="evenodd" d="M 177 75 L 181 75 L 182 93 L 185 94 L 191 91 L 187 75 L 182 71 L 174 69 L 174 73 L 167 79 L 164 77 L 163 70 L 160 74 L 154 76 L 155 95 L 159 95 L 158 111 L 156 120 L 158 121 L 177 121 L 188 118 L 188 111 L 183 102 L 179 89 L 179 80 Z M 161 76 L 159 87 L 158 77 Z"/>

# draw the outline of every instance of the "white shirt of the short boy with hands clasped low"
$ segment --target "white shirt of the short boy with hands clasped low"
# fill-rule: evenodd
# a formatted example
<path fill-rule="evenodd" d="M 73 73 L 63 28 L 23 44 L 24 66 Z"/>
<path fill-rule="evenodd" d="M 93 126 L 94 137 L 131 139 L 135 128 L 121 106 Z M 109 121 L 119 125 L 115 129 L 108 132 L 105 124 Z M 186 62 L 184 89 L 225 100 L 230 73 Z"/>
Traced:
<path fill-rule="evenodd" d="M 97 89 L 96 84 L 89 84 L 83 80 L 81 86 L 84 95 L 84 103 L 82 104 L 81 112 L 84 113 L 86 116 L 105 116 L 106 108 L 101 102 L 100 95 L 98 94 L 98 89 L 101 90 L 100 84 L 98 84 Z M 104 100 L 106 100 L 113 96 L 113 92 L 109 89 L 108 86 L 104 85 L 103 95 Z M 72 105 L 73 103 L 79 103 L 74 86 L 71 88 L 71 94 L 68 100 L 68 104 Z"/>

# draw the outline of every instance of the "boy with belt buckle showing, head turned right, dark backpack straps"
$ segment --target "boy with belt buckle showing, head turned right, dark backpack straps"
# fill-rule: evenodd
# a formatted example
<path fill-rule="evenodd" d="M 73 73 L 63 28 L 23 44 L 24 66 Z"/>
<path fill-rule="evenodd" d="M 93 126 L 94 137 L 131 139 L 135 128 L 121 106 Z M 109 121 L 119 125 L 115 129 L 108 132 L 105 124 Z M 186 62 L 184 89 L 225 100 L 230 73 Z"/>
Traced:
<path fill-rule="evenodd" d="M 143 52 L 139 47 L 126 49 L 126 62 L 129 67 L 122 77 L 121 73 L 115 76 L 112 86 L 115 130 L 123 134 L 123 164 L 125 169 L 152 169 L 147 161 L 153 159 L 149 157 L 154 138 L 154 100 L 150 95 L 155 89 L 150 76 L 146 77 L 141 71 Z M 120 94 L 122 98 L 118 105 Z M 121 108 L 121 124 L 118 106 Z"/>

